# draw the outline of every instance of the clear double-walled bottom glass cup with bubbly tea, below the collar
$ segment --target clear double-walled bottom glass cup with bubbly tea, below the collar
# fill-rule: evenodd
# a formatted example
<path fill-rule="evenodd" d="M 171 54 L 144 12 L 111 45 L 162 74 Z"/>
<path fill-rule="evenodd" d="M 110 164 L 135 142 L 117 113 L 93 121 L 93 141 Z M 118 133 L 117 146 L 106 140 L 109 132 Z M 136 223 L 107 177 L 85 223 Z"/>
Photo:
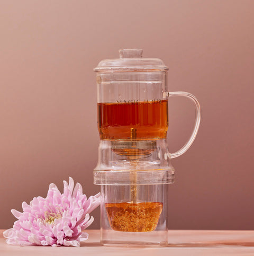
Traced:
<path fill-rule="evenodd" d="M 168 184 L 102 185 L 102 244 L 166 246 L 167 188 Z"/>

